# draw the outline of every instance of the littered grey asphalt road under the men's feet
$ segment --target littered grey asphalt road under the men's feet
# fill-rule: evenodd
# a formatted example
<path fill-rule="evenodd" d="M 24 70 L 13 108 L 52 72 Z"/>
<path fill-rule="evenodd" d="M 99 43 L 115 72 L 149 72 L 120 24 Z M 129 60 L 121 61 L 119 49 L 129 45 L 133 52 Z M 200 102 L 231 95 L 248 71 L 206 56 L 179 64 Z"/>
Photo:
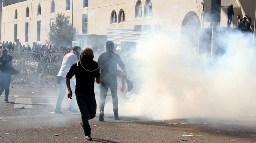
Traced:
<path fill-rule="evenodd" d="M 63 103 L 65 114 L 52 113 L 57 101 L 57 89 L 12 86 L 9 104 L 4 103 L 4 94 L 0 96 L 1 143 L 85 142 L 83 129 L 79 125 L 81 115 L 68 113 L 66 100 Z M 45 94 L 45 90 L 49 92 Z M 107 98 L 107 100 L 110 99 Z M 20 107 L 25 109 L 19 109 Z M 90 120 L 93 141 L 89 142 L 256 142 L 256 118 L 254 117 L 164 121 L 138 116 L 120 116 L 120 120 L 114 120 L 112 114 L 106 114 L 104 117 L 104 122 L 100 122 L 98 116 Z"/>

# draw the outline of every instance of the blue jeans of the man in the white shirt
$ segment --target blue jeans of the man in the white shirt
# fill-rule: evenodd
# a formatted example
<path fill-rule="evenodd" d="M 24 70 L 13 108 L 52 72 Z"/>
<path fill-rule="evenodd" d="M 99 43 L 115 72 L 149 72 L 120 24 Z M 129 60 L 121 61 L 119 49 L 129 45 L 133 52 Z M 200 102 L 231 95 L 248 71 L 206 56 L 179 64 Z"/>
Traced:
<path fill-rule="evenodd" d="M 57 104 L 56 104 L 56 108 L 55 110 L 61 110 L 61 104 L 63 102 L 64 97 L 67 95 L 66 91 L 67 91 L 67 86 L 66 86 L 66 77 L 61 77 L 61 76 L 57 76 L 57 80 L 59 83 L 59 90 L 60 90 L 60 94 L 57 100 Z M 75 86 L 74 86 L 74 81 L 71 80 L 70 82 L 71 85 L 71 89 L 74 92 Z M 70 100 L 70 104 L 69 104 L 69 110 L 73 110 L 74 106 L 76 104 L 76 100 L 74 98 L 72 98 Z"/>

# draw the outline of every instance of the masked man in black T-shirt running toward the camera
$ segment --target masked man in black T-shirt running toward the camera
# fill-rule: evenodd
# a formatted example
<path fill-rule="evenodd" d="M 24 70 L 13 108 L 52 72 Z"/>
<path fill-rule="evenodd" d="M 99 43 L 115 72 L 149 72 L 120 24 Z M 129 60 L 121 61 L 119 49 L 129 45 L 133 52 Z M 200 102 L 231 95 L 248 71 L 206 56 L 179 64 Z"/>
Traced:
<path fill-rule="evenodd" d="M 85 132 L 85 140 L 92 140 L 91 127 L 89 119 L 93 119 L 96 114 L 96 100 L 94 93 L 94 79 L 100 83 L 100 72 L 97 62 L 93 61 L 93 51 L 85 48 L 80 55 L 80 61 L 73 64 L 67 72 L 67 97 L 72 99 L 72 91 L 70 87 L 70 79 L 76 76 L 76 101 L 82 114 L 83 129 Z"/>

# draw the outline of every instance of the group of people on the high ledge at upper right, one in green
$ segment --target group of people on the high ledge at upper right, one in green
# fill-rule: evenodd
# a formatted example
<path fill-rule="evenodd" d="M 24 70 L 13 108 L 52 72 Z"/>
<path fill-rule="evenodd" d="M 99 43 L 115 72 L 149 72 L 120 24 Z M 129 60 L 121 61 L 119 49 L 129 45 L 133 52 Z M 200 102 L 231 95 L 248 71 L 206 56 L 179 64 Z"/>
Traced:
<path fill-rule="evenodd" d="M 228 25 L 228 27 L 230 27 L 231 22 L 232 22 L 232 17 L 235 15 L 233 5 L 228 6 L 227 14 L 228 14 L 227 25 Z M 253 32 L 253 30 L 251 29 L 251 24 L 252 24 L 252 20 L 251 20 L 251 17 L 249 17 L 248 15 L 245 15 L 245 17 L 243 19 L 241 18 L 240 15 L 237 15 L 236 27 L 240 31 L 242 31 L 242 32 Z"/>

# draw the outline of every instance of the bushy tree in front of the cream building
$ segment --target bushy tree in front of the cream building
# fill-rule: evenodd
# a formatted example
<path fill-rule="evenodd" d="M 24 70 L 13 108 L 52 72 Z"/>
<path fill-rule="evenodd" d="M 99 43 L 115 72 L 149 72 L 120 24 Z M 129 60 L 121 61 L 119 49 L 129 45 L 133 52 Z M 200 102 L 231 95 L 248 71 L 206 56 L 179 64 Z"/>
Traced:
<path fill-rule="evenodd" d="M 57 47 L 71 46 L 71 38 L 76 34 L 76 29 L 72 28 L 69 20 L 64 14 L 58 13 L 55 17 L 54 24 L 49 24 L 50 30 L 47 31 L 48 42 L 55 44 Z M 73 32 L 72 32 L 73 30 Z"/>

